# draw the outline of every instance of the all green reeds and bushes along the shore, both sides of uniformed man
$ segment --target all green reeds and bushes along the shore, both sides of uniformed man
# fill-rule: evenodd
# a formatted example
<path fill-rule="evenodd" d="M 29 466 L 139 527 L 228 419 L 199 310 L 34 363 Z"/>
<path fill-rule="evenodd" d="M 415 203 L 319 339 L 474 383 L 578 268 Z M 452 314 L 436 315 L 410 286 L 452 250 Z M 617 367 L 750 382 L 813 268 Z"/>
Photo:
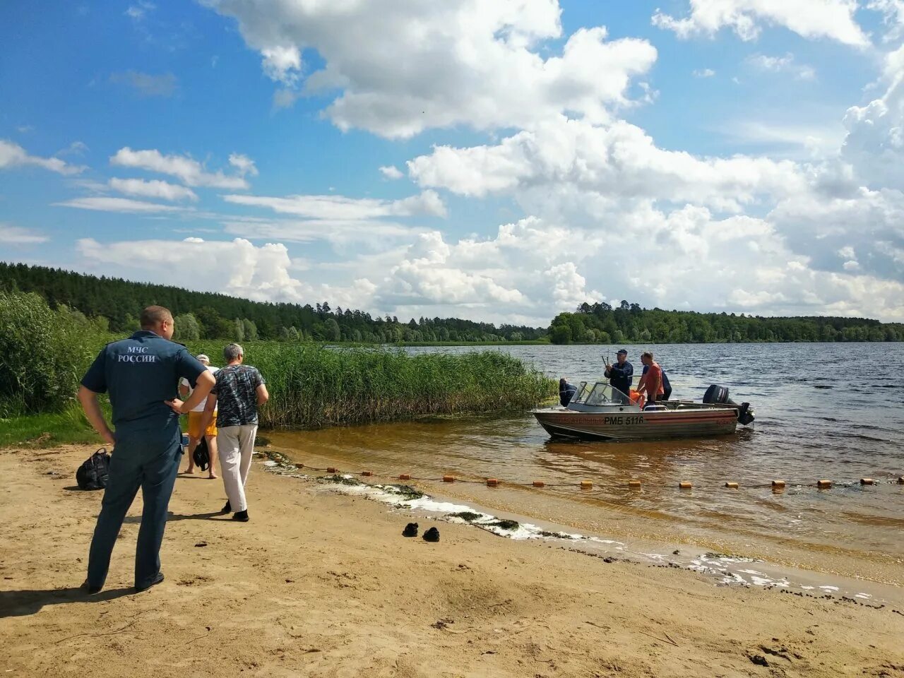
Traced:
<path fill-rule="evenodd" d="M 0 320 L 0 445 L 96 441 L 73 398 L 100 348 L 122 336 L 65 307 L 51 309 L 36 295 L 0 293 Z M 192 342 L 189 350 L 222 365 L 224 344 Z M 243 345 L 247 362 L 268 382 L 265 428 L 525 410 L 555 393 L 541 372 L 496 351 L 410 355 L 384 346 Z"/>

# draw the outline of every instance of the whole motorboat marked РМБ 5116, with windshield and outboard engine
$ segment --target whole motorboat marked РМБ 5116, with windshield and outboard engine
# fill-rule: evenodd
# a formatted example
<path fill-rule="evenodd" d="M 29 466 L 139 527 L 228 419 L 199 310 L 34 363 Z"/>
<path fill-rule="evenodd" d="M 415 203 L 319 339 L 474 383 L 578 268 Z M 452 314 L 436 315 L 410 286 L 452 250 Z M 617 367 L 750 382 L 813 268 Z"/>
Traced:
<path fill-rule="evenodd" d="M 704 438 L 734 433 L 738 423 L 753 423 L 748 402 L 729 399 L 724 386 L 712 384 L 702 402 L 661 400 L 644 406 L 636 391 L 625 394 L 607 381 L 582 381 L 567 407 L 532 410 L 553 438 L 646 440 Z"/>

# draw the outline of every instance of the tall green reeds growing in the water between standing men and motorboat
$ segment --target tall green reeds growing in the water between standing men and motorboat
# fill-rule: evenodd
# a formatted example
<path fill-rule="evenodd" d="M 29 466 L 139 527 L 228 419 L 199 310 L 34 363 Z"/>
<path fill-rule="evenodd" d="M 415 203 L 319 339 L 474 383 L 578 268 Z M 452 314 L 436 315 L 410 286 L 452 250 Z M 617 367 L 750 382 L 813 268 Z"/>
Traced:
<path fill-rule="evenodd" d="M 222 344 L 199 343 L 214 364 Z M 266 428 L 322 428 L 425 414 L 524 410 L 555 393 L 541 372 L 507 353 L 410 355 L 388 348 L 245 344 L 267 381 Z"/>

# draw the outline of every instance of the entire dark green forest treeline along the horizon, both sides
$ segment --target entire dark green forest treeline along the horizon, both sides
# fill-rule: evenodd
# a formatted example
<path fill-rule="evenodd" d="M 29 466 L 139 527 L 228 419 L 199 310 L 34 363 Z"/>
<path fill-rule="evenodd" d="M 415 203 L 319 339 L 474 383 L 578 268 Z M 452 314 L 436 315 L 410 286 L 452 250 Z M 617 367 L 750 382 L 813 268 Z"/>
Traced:
<path fill-rule="evenodd" d="M 35 292 L 52 306 L 85 315 L 101 332 L 137 328 L 141 309 L 166 306 L 176 316 L 179 341 L 198 339 L 313 340 L 318 342 L 518 342 L 553 344 L 707 344 L 740 342 L 896 342 L 904 325 L 830 316 L 762 317 L 646 309 L 622 301 L 617 306 L 585 303 L 560 313 L 549 327 L 492 325 L 460 318 L 386 315 L 328 302 L 311 306 L 258 302 L 181 287 L 88 276 L 59 268 L 0 262 L 0 290 Z"/>

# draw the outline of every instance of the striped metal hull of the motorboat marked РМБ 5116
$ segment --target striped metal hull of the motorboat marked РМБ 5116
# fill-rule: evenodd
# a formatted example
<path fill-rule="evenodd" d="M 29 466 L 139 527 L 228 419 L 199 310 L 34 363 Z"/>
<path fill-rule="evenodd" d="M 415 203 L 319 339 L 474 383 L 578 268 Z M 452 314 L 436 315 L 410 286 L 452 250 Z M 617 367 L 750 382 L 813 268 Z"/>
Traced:
<path fill-rule="evenodd" d="M 728 408 L 612 413 L 551 408 L 533 414 L 553 438 L 580 440 L 709 438 L 734 433 L 738 427 L 737 410 Z"/>

